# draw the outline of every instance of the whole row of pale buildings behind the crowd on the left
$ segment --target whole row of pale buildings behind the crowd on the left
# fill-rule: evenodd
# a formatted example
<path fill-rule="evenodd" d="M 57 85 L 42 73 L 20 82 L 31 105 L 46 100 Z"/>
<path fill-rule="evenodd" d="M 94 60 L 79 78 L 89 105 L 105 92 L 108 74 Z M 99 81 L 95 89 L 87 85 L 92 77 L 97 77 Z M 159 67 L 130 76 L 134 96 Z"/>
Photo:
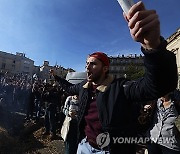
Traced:
<path fill-rule="evenodd" d="M 11 54 L 0 51 L 0 73 L 14 74 L 28 74 L 30 76 L 37 76 L 41 79 L 50 79 L 49 70 L 53 69 L 57 75 L 65 78 L 68 72 L 73 72 L 71 68 L 65 69 L 62 66 L 50 66 L 49 61 L 44 61 L 42 66 L 34 66 L 34 61 L 27 58 L 24 53 Z"/>

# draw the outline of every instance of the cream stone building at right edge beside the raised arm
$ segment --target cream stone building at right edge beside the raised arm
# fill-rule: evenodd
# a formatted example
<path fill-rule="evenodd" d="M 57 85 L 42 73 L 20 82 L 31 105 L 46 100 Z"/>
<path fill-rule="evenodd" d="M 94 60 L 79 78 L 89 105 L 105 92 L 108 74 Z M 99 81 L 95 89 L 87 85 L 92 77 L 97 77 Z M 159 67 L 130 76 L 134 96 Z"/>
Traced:
<path fill-rule="evenodd" d="M 176 62 L 178 67 L 178 89 L 180 89 L 180 28 L 167 38 L 167 49 L 176 54 Z"/>

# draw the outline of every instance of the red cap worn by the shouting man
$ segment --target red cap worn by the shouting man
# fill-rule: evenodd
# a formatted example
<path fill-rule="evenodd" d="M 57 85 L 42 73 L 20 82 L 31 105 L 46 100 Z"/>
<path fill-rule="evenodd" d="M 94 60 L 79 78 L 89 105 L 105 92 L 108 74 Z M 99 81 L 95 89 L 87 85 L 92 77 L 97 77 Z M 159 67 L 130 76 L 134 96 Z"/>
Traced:
<path fill-rule="evenodd" d="M 108 56 L 105 53 L 98 51 L 98 52 L 94 52 L 94 53 L 90 54 L 89 57 L 97 58 L 98 60 L 100 60 L 106 66 L 109 67 L 109 58 L 108 58 Z"/>

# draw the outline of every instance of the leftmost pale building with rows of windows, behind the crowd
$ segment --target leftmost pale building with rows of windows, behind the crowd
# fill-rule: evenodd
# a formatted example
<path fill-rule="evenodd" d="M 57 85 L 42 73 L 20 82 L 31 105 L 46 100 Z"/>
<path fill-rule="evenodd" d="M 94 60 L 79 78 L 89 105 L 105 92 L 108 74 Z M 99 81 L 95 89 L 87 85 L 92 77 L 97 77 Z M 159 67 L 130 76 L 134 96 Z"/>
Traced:
<path fill-rule="evenodd" d="M 9 74 L 29 74 L 32 75 L 34 61 L 27 58 L 24 53 L 11 54 L 0 51 L 0 71 Z"/>

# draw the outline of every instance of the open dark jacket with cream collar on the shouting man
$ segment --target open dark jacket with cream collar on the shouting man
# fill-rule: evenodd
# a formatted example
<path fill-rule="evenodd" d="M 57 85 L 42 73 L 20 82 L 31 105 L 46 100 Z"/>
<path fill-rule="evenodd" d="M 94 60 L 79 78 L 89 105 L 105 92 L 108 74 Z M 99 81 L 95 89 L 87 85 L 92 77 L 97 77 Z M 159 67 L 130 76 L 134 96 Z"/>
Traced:
<path fill-rule="evenodd" d="M 145 75 L 135 81 L 108 76 L 97 87 L 97 108 L 103 130 L 110 136 L 134 136 L 132 102 L 157 99 L 173 91 L 177 85 L 177 66 L 175 55 L 167 50 L 152 53 L 144 51 Z M 71 85 L 55 76 L 69 93 L 79 95 L 78 126 L 80 138 L 84 137 L 84 114 L 91 99 L 87 81 Z"/>

